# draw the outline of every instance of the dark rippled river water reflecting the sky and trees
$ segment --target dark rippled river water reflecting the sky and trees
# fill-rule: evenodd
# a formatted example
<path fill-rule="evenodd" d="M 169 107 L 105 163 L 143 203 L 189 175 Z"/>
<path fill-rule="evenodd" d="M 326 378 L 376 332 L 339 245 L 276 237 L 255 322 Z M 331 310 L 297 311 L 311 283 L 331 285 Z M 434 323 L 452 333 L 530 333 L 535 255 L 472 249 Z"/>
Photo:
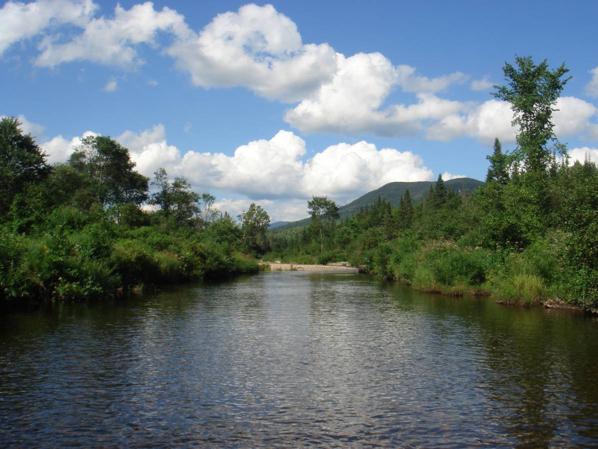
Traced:
<path fill-rule="evenodd" d="M 598 320 L 288 271 L 0 318 L 3 448 L 598 446 Z"/>

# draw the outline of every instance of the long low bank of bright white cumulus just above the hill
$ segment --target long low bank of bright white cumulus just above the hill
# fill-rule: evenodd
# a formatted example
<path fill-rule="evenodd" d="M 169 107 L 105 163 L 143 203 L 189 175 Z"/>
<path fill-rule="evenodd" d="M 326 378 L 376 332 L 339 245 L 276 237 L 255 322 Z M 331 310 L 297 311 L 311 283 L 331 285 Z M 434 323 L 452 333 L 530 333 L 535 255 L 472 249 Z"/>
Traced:
<path fill-rule="evenodd" d="M 292 132 L 222 153 L 181 152 L 166 142 L 162 125 L 117 140 L 127 146 L 138 170 L 152 176 L 163 166 L 193 185 L 243 194 L 249 198 L 310 198 L 326 195 L 345 200 L 392 181 L 429 181 L 433 173 L 410 151 L 377 149 L 368 142 L 338 143 L 303 162 L 306 143 Z"/>

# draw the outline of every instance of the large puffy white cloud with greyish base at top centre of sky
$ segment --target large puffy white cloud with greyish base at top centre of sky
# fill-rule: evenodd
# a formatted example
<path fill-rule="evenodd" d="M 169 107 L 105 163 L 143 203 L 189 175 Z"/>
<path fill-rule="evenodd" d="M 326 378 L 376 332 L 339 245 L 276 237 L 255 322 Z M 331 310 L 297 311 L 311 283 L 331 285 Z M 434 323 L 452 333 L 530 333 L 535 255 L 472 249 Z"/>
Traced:
<path fill-rule="evenodd" d="M 199 35 L 167 50 L 195 85 L 244 85 L 269 99 L 297 101 L 329 80 L 336 54 L 328 44 L 303 45 L 297 26 L 271 5 L 245 5 L 216 16 Z"/>

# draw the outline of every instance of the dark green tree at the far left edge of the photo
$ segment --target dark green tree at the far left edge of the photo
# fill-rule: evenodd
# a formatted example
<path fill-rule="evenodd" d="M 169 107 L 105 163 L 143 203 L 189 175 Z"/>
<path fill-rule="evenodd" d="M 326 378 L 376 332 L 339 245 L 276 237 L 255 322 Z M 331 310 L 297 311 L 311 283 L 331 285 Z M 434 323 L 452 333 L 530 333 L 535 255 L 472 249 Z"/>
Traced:
<path fill-rule="evenodd" d="M 23 135 L 14 117 L 0 120 L 0 213 L 5 215 L 17 193 L 26 185 L 44 181 L 50 174 L 45 154 L 30 134 Z"/>

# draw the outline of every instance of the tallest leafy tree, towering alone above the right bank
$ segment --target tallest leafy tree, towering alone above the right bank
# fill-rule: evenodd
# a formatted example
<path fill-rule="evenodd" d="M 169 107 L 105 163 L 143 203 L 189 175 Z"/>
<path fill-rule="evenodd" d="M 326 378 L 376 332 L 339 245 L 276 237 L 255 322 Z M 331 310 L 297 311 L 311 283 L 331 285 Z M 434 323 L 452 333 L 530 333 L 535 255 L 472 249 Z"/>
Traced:
<path fill-rule="evenodd" d="M 512 124 L 518 127 L 517 151 L 527 170 L 545 172 L 553 151 L 548 141 L 558 143 L 553 132 L 552 113 L 563 87 L 571 77 L 562 79 L 569 72 L 563 63 L 550 71 L 547 60 L 535 65 L 532 57 L 515 56 L 517 67 L 505 63 L 502 68 L 508 86 L 495 85 L 493 95 L 511 103 Z"/>

